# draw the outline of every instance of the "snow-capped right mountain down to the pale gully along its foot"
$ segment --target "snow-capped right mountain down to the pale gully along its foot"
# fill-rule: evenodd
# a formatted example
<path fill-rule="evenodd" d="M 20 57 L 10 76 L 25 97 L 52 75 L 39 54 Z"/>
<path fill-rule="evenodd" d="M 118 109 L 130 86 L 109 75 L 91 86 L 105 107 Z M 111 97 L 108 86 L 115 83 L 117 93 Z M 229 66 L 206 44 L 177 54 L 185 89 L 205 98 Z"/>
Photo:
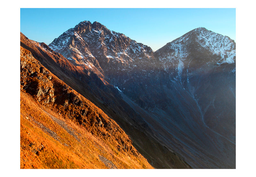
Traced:
<path fill-rule="evenodd" d="M 235 141 L 235 127 L 228 126 L 235 124 L 235 42 L 197 28 L 167 43 L 155 54 L 172 82 L 180 84 L 195 99 L 206 126 Z"/>

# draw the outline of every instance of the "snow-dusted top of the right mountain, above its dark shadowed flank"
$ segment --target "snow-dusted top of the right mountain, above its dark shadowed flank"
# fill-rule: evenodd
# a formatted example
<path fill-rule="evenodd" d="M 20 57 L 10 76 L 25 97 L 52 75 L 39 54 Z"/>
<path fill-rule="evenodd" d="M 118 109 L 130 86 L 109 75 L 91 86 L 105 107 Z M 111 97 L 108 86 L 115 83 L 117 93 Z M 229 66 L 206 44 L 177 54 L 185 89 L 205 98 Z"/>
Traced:
<path fill-rule="evenodd" d="M 209 60 L 200 59 L 202 62 L 213 62 L 217 65 L 231 64 L 236 60 L 236 43 L 227 36 L 199 27 L 167 43 L 158 49 L 155 55 L 159 56 L 160 60 L 182 60 L 191 54 L 200 56 L 200 53 L 211 56 Z"/>

